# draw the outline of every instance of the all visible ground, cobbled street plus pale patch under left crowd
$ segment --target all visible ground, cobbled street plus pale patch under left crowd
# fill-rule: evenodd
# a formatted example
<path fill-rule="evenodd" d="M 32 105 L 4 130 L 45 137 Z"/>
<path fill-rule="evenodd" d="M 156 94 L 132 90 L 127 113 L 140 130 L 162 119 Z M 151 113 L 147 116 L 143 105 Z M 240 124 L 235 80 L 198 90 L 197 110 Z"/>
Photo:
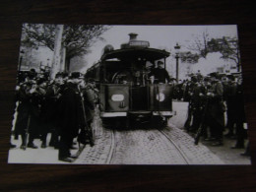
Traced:
<path fill-rule="evenodd" d="M 102 126 L 96 111 L 93 122 L 95 146 L 85 146 L 75 164 L 250 164 L 250 158 L 241 157 L 243 149 L 231 150 L 234 140 L 224 139 L 223 147 L 211 147 L 200 141 L 194 145 L 192 135 L 184 129 L 186 102 L 173 102 L 177 115 L 162 130 L 107 129 Z M 48 137 L 49 140 L 49 137 Z M 69 163 L 58 160 L 58 150 L 51 147 L 23 151 L 20 140 L 12 140 L 17 148 L 9 151 L 9 162 L 17 163 Z M 40 146 L 40 141 L 35 140 Z M 78 147 L 78 146 L 77 146 Z M 72 150 L 72 154 L 78 150 Z"/>

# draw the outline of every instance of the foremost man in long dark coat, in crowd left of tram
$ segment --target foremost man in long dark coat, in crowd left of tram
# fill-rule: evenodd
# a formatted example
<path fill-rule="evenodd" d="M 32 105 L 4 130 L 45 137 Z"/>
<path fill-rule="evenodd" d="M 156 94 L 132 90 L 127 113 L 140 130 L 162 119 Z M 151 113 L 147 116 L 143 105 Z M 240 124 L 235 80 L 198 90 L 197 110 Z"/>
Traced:
<path fill-rule="evenodd" d="M 70 149 L 83 122 L 82 97 L 78 88 L 79 77 L 79 72 L 71 74 L 70 80 L 67 81 L 67 87 L 59 100 L 60 142 L 58 158 L 68 162 L 72 162 L 72 158 L 76 158 L 71 156 Z"/>

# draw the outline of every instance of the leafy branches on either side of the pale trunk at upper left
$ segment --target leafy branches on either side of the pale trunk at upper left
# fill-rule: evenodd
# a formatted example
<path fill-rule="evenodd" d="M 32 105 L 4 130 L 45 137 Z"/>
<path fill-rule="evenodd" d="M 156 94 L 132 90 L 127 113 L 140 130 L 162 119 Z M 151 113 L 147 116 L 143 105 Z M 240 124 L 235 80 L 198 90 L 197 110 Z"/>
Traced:
<path fill-rule="evenodd" d="M 61 43 L 66 49 L 65 70 L 69 71 L 72 58 L 89 53 L 93 43 L 102 40 L 101 34 L 108 28 L 102 25 L 64 25 Z M 22 45 L 33 48 L 45 46 L 53 51 L 55 29 L 56 25 L 25 24 Z"/>

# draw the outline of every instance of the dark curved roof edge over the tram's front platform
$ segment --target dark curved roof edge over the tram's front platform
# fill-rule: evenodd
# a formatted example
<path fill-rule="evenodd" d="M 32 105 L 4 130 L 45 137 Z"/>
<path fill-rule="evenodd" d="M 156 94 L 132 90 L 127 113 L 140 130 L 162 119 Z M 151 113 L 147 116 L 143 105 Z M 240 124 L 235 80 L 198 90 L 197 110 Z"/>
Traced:
<path fill-rule="evenodd" d="M 168 57 L 170 55 L 169 52 L 165 50 L 160 50 L 156 48 L 124 48 L 124 49 L 116 49 L 109 52 L 104 53 L 101 56 L 101 60 L 107 59 L 131 59 L 131 58 L 145 58 L 147 60 L 159 60 L 164 57 Z"/>

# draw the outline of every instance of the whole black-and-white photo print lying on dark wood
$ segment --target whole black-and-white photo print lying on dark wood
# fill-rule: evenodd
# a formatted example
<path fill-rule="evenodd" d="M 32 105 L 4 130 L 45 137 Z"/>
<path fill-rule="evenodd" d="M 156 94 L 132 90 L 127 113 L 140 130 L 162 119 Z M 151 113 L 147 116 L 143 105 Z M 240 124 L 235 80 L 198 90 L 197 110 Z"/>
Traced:
<path fill-rule="evenodd" d="M 236 25 L 23 24 L 8 163 L 251 164 Z"/>

